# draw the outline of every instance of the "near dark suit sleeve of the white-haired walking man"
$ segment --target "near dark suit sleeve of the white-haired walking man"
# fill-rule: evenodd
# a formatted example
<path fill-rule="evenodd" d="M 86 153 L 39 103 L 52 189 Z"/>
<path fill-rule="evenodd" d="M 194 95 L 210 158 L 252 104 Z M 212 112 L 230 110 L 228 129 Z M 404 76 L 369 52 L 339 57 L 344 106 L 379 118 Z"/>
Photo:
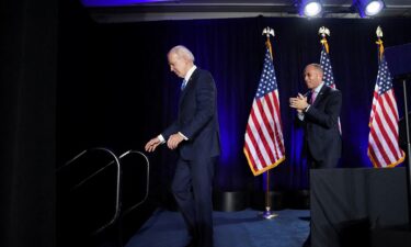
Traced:
<path fill-rule="evenodd" d="M 196 87 L 196 110 L 192 121 L 180 132 L 192 139 L 213 119 L 216 112 L 216 86 L 210 74 L 201 76 Z"/>

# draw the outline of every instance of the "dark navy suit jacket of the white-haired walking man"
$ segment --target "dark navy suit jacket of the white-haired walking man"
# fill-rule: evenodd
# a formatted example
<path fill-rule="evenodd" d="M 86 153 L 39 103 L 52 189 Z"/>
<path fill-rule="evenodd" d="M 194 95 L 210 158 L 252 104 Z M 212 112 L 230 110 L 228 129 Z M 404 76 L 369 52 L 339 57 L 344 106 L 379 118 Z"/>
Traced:
<path fill-rule="evenodd" d="M 168 139 L 178 132 L 189 138 L 179 146 L 182 159 L 193 160 L 220 154 L 217 90 L 212 75 L 206 70 L 194 70 L 181 92 L 176 121 L 161 134 Z"/>

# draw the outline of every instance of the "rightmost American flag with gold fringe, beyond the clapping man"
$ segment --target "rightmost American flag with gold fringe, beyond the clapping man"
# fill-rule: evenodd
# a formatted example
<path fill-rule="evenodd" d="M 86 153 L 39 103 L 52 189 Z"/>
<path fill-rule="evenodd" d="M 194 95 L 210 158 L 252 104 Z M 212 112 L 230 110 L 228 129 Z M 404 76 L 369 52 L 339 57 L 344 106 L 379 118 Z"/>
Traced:
<path fill-rule="evenodd" d="M 368 157 L 374 167 L 396 167 L 404 160 L 398 144 L 398 110 L 392 78 L 381 56 L 369 117 Z"/>

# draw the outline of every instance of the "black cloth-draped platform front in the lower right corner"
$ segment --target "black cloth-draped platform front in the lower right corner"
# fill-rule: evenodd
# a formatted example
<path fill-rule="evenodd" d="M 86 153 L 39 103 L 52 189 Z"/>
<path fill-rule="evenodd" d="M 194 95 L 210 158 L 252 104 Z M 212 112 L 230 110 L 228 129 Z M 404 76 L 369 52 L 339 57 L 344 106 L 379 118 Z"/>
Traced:
<path fill-rule="evenodd" d="M 372 246 L 372 231 L 408 225 L 406 168 L 312 169 L 313 247 Z"/>

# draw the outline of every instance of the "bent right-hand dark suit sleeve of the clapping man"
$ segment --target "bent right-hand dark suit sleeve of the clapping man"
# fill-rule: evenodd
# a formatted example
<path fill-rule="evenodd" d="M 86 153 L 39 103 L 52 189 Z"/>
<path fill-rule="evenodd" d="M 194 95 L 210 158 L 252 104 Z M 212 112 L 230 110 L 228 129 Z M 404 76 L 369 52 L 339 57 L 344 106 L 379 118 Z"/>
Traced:
<path fill-rule="evenodd" d="M 331 128 L 338 124 L 342 105 L 342 94 L 339 90 L 330 92 L 324 111 L 319 111 L 312 105 L 305 113 L 305 117 L 324 128 Z"/>

